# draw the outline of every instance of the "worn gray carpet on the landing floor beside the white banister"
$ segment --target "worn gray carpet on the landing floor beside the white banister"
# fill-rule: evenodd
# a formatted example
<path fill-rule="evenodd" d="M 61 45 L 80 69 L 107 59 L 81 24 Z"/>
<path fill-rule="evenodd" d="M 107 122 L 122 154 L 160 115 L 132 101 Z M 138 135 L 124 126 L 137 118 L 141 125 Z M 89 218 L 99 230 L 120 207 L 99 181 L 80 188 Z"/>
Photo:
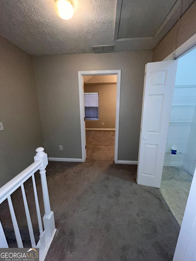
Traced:
<path fill-rule="evenodd" d="M 137 185 L 136 173 L 136 165 L 112 161 L 49 162 L 47 181 L 57 232 L 45 260 L 172 260 L 179 224 L 159 189 Z M 33 207 L 29 181 L 25 189 Z M 42 206 L 39 174 L 36 183 Z M 12 198 L 17 210 L 21 194 Z M 6 211 L 4 204 L 1 219 L 8 225 Z M 20 207 L 17 217 L 24 231 L 22 212 Z M 37 226 L 35 208 L 31 215 Z M 7 230 L 6 236 L 10 237 L 11 228 Z M 27 233 L 22 236 L 27 243 Z"/>

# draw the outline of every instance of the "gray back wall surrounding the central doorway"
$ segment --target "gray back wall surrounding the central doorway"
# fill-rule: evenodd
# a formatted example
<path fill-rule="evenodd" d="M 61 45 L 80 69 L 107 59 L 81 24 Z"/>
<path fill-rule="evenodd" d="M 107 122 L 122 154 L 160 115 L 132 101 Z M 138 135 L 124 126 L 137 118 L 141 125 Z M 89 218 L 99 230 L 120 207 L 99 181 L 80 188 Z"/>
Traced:
<path fill-rule="evenodd" d="M 33 57 L 48 156 L 81 158 L 78 71 L 121 69 L 118 160 L 138 160 L 144 71 L 151 61 L 152 50 Z"/>

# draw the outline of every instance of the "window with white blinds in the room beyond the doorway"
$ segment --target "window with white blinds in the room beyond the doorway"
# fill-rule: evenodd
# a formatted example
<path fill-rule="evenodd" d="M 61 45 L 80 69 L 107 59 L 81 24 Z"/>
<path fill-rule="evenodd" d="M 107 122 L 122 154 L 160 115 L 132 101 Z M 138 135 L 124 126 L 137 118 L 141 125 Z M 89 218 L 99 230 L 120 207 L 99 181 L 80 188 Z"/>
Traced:
<path fill-rule="evenodd" d="M 99 120 L 99 93 L 85 92 L 85 119 Z"/>

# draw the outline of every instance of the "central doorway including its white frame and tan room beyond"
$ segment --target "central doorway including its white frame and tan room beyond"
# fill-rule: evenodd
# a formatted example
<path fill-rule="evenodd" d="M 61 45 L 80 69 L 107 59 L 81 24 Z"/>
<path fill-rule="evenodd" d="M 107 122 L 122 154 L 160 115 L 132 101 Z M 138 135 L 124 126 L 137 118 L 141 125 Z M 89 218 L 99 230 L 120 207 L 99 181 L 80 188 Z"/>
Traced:
<path fill-rule="evenodd" d="M 109 79 L 108 77 L 110 77 L 111 80 L 108 81 Z M 112 153 L 113 153 L 114 162 L 117 163 L 118 161 L 119 103 L 120 103 L 120 81 L 121 81 L 120 77 L 121 77 L 121 70 L 78 72 L 80 120 L 81 120 L 81 147 L 82 147 L 83 162 L 86 160 L 88 156 L 90 156 L 89 158 L 94 157 L 94 159 L 96 159 L 96 157 L 98 157 L 97 159 L 102 159 L 104 157 L 104 155 L 102 155 L 101 146 L 100 147 L 93 146 L 95 145 L 93 143 L 96 143 L 96 141 L 101 138 L 101 134 L 104 134 L 105 136 L 104 140 L 107 140 L 107 143 L 108 142 L 112 143 L 112 144 L 100 144 L 100 145 L 107 146 L 108 151 L 105 151 L 107 157 L 108 156 L 112 157 Z M 109 114 L 110 113 L 111 114 L 108 115 L 108 117 L 105 117 L 106 115 L 104 115 L 104 108 L 103 107 L 100 108 L 99 99 L 102 97 L 103 93 L 100 93 L 100 91 L 98 91 L 98 85 L 103 85 L 103 86 L 105 85 L 106 87 L 106 83 L 107 85 L 111 85 L 111 86 L 114 84 L 116 85 L 115 87 L 116 90 L 113 91 L 116 94 L 115 109 L 113 108 L 115 112 L 113 111 L 113 113 L 111 113 L 111 111 L 109 111 Z M 107 88 L 109 88 L 109 86 L 107 86 Z M 99 88 L 99 90 L 101 90 L 101 87 Z M 106 100 L 105 104 L 107 105 L 107 95 L 104 95 L 104 97 Z M 85 106 L 85 101 L 87 106 Z M 91 104 L 91 101 L 94 101 L 93 104 Z M 103 100 L 100 101 L 102 103 Z M 114 102 L 112 102 L 112 107 L 114 107 L 113 103 Z M 95 148 L 97 148 L 98 150 L 95 151 Z M 87 150 L 89 151 L 89 155 Z"/>

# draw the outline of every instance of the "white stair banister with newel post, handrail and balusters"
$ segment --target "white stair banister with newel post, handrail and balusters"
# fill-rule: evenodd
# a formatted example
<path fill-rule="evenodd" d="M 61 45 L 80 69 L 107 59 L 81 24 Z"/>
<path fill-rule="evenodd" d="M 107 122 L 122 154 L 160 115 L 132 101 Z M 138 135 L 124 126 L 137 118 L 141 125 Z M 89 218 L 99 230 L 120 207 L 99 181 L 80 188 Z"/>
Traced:
<path fill-rule="evenodd" d="M 18 248 L 23 248 L 23 242 L 20 234 L 20 229 L 17 223 L 17 217 L 14 212 L 14 207 L 12 204 L 11 194 L 19 187 L 21 187 L 22 197 L 25 207 L 25 214 L 27 218 L 27 225 L 29 236 L 31 240 L 32 248 L 40 248 L 40 261 L 45 259 L 47 251 L 50 247 L 52 239 L 55 235 L 56 228 L 55 228 L 55 219 L 54 213 L 51 211 L 50 207 L 50 199 L 48 194 L 48 187 L 47 187 L 47 179 L 46 179 L 46 166 L 48 165 L 48 158 L 47 154 L 44 152 L 44 148 L 39 147 L 36 149 L 36 155 L 34 157 L 34 161 L 30 166 L 28 166 L 25 170 L 19 173 L 16 177 L 10 180 L 6 185 L 0 188 L 0 204 L 7 199 L 9 204 L 9 210 L 11 214 L 11 219 L 13 223 L 13 229 L 16 236 L 16 241 Z M 37 188 L 35 182 L 34 173 L 40 170 L 40 177 L 41 177 L 41 186 L 42 186 L 42 194 L 43 194 L 43 205 L 45 214 L 43 216 L 43 224 L 44 230 L 42 226 L 42 219 L 40 214 L 40 206 L 39 200 L 37 195 Z M 37 220 L 40 230 L 40 240 L 37 242 L 35 241 L 35 236 L 33 232 L 33 224 L 30 216 L 29 206 L 27 202 L 27 197 L 24 188 L 24 182 L 28 180 L 28 178 L 32 177 L 33 182 L 33 191 L 35 196 L 35 203 L 36 203 L 36 212 L 37 212 Z M 6 240 L 6 236 L 0 221 L 0 248 L 8 248 L 8 243 Z"/>

